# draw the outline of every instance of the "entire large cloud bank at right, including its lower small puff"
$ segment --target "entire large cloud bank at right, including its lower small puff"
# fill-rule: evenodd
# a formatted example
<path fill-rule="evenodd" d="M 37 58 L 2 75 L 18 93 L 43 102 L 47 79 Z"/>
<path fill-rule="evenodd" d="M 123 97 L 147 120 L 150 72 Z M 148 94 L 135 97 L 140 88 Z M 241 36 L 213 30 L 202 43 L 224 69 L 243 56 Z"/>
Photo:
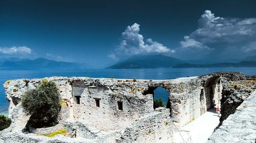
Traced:
<path fill-rule="evenodd" d="M 215 56 L 242 58 L 256 54 L 256 18 L 218 17 L 206 10 L 198 20 L 198 28 L 180 41 L 178 54 L 190 57 Z M 185 52 L 185 53 L 184 53 Z M 216 54 L 218 53 L 218 54 Z M 197 54 L 197 55 L 195 55 Z"/>

